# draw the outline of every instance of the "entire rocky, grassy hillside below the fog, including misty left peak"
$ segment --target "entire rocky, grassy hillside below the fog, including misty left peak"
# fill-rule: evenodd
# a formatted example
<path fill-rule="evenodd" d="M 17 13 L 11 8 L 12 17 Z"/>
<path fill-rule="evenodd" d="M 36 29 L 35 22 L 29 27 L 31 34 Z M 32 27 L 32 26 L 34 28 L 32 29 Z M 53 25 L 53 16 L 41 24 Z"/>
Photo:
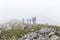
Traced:
<path fill-rule="evenodd" d="M 0 25 L 0 40 L 60 40 L 60 26 L 13 20 Z"/>

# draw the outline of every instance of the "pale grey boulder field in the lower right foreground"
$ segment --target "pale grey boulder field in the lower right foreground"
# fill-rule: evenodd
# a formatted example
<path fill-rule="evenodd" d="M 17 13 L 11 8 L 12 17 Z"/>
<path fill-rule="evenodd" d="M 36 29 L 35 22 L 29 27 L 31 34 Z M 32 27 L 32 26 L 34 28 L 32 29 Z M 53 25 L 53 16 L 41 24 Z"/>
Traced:
<path fill-rule="evenodd" d="M 60 36 L 57 36 L 55 32 L 53 28 L 41 28 L 40 30 L 24 35 L 19 40 L 60 40 Z"/>

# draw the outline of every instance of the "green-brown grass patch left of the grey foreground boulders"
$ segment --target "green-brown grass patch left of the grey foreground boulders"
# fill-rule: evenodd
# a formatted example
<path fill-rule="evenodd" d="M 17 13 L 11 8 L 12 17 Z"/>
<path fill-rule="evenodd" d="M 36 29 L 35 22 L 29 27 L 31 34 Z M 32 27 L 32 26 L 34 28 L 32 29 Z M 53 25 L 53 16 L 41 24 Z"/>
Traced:
<path fill-rule="evenodd" d="M 28 32 L 29 32 L 28 30 L 14 29 L 14 30 L 9 30 L 9 31 L 4 31 L 0 35 L 1 37 L 4 36 L 4 38 L 15 36 L 16 39 L 18 39 L 24 36 L 24 34 L 27 34 Z"/>

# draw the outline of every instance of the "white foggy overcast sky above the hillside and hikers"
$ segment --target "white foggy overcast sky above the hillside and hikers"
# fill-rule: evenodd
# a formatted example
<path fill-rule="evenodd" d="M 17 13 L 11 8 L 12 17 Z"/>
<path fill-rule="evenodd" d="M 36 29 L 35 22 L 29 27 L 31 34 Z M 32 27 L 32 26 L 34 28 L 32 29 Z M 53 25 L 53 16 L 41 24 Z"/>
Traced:
<path fill-rule="evenodd" d="M 37 17 L 37 23 L 60 25 L 60 0 L 0 0 L 0 23 Z"/>

